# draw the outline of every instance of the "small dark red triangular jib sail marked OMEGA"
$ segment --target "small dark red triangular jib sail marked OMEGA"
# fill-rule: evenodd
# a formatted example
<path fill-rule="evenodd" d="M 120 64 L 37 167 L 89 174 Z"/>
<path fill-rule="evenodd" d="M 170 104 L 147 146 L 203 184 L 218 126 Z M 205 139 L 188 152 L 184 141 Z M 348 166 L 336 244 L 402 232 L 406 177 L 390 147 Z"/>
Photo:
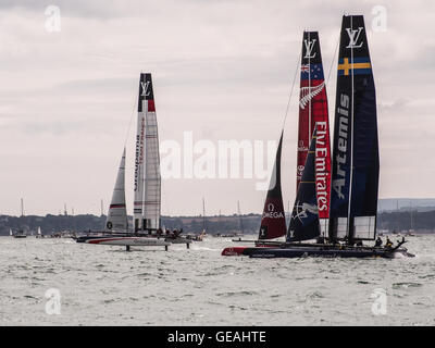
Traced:
<path fill-rule="evenodd" d="M 275 165 L 264 202 L 263 216 L 259 239 L 273 239 L 286 234 L 285 211 L 283 194 L 281 190 L 281 149 L 283 145 L 283 133 L 281 134 L 278 148 L 276 150 Z"/>

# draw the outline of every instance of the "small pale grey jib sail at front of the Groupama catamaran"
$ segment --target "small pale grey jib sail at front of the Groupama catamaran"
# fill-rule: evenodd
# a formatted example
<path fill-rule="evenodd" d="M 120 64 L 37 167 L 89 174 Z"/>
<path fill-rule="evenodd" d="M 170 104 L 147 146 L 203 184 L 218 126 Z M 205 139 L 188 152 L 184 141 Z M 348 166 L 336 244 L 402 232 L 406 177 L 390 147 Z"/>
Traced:
<path fill-rule="evenodd" d="M 105 227 L 109 231 L 119 232 L 126 232 L 128 229 L 127 209 L 125 206 L 125 148 L 117 171 Z"/>

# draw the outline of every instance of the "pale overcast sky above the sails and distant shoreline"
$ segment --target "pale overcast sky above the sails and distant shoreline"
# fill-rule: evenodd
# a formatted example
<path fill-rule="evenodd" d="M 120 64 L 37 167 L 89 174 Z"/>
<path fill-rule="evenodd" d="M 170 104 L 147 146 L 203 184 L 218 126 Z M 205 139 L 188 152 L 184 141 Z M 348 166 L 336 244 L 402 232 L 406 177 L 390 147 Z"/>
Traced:
<path fill-rule="evenodd" d="M 47 7 L 61 30 L 47 32 Z M 383 5 L 385 32 L 372 29 Z M 104 212 L 127 139 L 133 204 L 140 72 L 153 77 L 160 140 L 277 140 L 303 29 L 320 32 L 333 123 L 341 15 L 363 14 L 376 84 L 381 198 L 435 197 L 435 2 L 0 0 L 0 213 Z M 299 80 L 297 80 L 297 86 Z M 295 199 L 297 95 L 285 126 L 284 201 Z M 128 124 L 133 122 L 127 137 Z M 253 144 L 253 142 L 252 142 Z M 171 178 L 163 214 L 260 212 L 256 178 Z"/>

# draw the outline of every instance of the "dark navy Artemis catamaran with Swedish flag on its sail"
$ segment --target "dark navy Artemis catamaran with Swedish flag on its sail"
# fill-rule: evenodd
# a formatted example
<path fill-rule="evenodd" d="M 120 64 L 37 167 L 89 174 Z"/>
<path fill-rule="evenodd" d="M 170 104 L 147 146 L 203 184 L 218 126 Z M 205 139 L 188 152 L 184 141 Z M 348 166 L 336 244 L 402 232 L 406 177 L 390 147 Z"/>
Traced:
<path fill-rule="evenodd" d="M 362 15 L 344 15 L 337 71 L 335 127 L 328 215 L 321 223 L 319 156 L 324 150 L 319 129 L 312 136 L 295 200 L 286 243 L 279 247 L 247 248 L 251 258 L 413 257 L 401 245 L 362 246 L 376 236 L 378 139 L 376 98 Z M 323 178 L 322 178 L 323 181 Z M 323 186 L 321 187 L 323 188 Z M 323 215 L 324 216 L 324 215 Z M 326 237 L 327 236 L 327 237 Z M 318 239 L 318 243 L 304 240 Z M 296 244 L 295 244 L 296 243 Z"/>

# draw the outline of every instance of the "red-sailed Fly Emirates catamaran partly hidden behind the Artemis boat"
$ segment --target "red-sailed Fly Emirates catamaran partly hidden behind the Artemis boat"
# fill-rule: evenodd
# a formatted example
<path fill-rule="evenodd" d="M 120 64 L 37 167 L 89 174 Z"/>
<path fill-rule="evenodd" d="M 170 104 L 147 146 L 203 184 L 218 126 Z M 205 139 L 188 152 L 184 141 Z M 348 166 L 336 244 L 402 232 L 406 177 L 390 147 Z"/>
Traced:
<path fill-rule="evenodd" d="M 331 150 L 326 86 L 318 32 L 303 32 L 302 35 L 298 124 L 296 189 L 298 189 L 300 184 L 312 134 L 318 132 L 322 137 L 322 141 L 319 144 L 320 150 L 319 165 L 316 166 L 316 186 L 319 190 L 319 207 L 322 207 L 319 213 L 322 216 L 321 225 L 323 226 L 323 235 L 325 235 L 327 233 L 327 215 L 330 207 L 328 183 L 331 178 Z M 281 186 L 281 152 L 283 135 L 284 132 L 282 132 L 279 137 L 275 164 L 264 201 L 258 240 L 234 241 L 253 241 L 258 247 L 279 246 L 284 243 L 284 240 L 279 240 L 279 238 L 286 236 L 287 233 Z M 234 256 L 244 253 L 246 248 L 250 247 L 226 248 L 222 254 Z"/>

